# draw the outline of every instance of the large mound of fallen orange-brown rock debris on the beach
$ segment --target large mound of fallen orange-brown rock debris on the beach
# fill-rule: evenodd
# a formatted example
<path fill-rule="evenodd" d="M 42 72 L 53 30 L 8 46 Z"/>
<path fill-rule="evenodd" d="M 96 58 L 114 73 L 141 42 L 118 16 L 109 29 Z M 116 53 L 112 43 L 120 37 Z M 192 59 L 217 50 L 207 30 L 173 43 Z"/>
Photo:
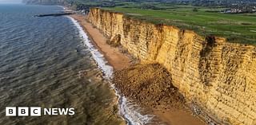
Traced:
<path fill-rule="evenodd" d="M 171 77 L 159 64 L 135 64 L 114 73 L 113 83 L 122 94 L 146 107 L 182 109 L 185 102 Z"/>

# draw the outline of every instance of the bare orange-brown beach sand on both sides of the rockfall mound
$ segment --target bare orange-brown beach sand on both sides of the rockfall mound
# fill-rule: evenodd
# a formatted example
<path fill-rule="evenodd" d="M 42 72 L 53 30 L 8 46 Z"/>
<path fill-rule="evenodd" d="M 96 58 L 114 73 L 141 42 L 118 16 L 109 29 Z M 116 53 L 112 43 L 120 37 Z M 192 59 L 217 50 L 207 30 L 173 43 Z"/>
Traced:
<path fill-rule="evenodd" d="M 119 49 L 111 47 L 106 44 L 106 37 L 90 22 L 86 21 L 85 15 L 74 14 L 70 15 L 71 18 L 77 20 L 83 29 L 86 30 L 86 33 L 89 34 L 90 39 L 93 41 L 94 45 L 99 51 L 101 51 L 106 60 L 115 70 L 121 70 L 123 68 L 130 67 L 130 58 L 125 54 L 121 53 Z M 165 108 L 153 108 L 154 114 L 157 115 L 163 123 L 167 125 L 205 125 L 201 119 L 198 119 L 196 116 L 191 115 L 191 111 L 183 110 L 170 110 L 166 111 Z"/>

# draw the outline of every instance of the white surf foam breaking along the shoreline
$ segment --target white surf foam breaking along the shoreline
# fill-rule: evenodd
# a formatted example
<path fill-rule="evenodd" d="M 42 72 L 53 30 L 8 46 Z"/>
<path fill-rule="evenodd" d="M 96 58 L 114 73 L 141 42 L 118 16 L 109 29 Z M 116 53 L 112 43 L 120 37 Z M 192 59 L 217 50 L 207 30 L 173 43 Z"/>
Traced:
<path fill-rule="evenodd" d="M 70 18 L 70 20 L 78 28 L 79 35 L 80 37 L 82 37 L 84 45 L 86 45 L 90 50 L 94 61 L 96 61 L 96 63 L 98 64 L 98 68 L 102 69 L 102 72 L 104 73 L 104 78 L 106 80 L 110 80 L 113 77 L 113 67 L 107 64 L 107 61 L 105 60 L 102 53 L 100 53 L 98 49 L 95 49 L 94 45 L 90 43 L 89 37 L 82 29 L 82 26 L 79 25 L 78 21 L 74 20 L 74 18 Z M 120 92 L 118 92 L 118 89 L 114 88 L 114 84 L 111 84 L 111 87 L 115 90 L 115 94 L 118 96 L 119 113 L 120 115 L 122 115 L 123 119 L 127 121 L 127 124 L 143 125 L 146 123 L 150 123 L 150 121 L 154 118 L 154 115 L 142 115 L 140 113 L 140 108 L 136 104 L 128 101 L 125 96 L 121 96 L 119 94 Z"/>

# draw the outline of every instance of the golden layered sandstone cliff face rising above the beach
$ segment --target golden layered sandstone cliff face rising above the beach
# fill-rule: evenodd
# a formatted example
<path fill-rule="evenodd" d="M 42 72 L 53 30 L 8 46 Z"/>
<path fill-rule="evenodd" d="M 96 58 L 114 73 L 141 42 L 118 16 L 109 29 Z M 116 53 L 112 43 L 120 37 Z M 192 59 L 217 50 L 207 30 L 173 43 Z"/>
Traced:
<path fill-rule="evenodd" d="M 256 124 L 256 47 L 91 9 L 89 21 L 144 63 L 162 64 L 187 100 L 230 124 Z M 117 42 L 117 41 L 114 41 Z"/>

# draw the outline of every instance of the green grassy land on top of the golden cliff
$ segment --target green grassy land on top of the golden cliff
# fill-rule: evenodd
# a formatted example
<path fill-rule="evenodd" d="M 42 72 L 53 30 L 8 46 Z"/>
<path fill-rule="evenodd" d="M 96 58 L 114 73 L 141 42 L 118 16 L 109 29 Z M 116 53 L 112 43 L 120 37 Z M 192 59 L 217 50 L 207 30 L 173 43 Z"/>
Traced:
<path fill-rule="evenodd" d="M 138 6 L 103 8 L 121 12 L 130 18 L 154 24 L 175 25 L 206 36 L 226 37 L 227 41 L 256 45 L 256 14 L 223 14 L 224 8 L 195 6 L 161 6 L 161 10 L 139 9 Z M 196 9 L 195 9 L 196 8 Z"/>

